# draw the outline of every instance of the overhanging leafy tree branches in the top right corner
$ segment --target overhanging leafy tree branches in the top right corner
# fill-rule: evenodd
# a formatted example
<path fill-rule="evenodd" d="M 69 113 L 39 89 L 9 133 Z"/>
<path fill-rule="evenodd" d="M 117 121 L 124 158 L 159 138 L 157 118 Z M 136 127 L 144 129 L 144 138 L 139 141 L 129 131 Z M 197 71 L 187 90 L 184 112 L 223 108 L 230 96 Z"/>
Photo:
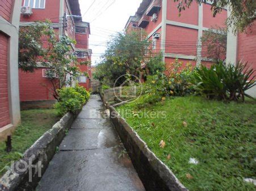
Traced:
<path fill-rule="evenodd" d="M 231 13 L 226 20 L 226 24 L 228 28 L 233 26 L 233 32 L 244 32 L 248 26 L 253 25 L 253 21 L 255 20 L 255 0 L 174 0 L 174 2 L 179 2 L 179 12 L 189 8 L 193 1 L 199 5 L 205 2 L 211 2 L 213 17 L 219 14 L 223 10 L 223 7 L 229 8 Z"/>

